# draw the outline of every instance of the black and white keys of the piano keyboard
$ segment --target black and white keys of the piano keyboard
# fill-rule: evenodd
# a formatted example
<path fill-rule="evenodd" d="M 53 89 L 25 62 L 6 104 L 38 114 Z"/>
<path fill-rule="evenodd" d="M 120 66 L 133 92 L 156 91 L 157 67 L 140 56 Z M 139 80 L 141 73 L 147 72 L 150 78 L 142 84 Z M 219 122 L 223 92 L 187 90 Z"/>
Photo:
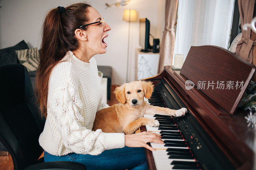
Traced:
<path fill-rule="evenodd" d="M 153 106 L 167 107 L 156 89 L 147 102 Z M 151 147 L 156 149 L 152 153 L 157 170 L 200 169 L 198 161 L 195 159 L 180 129 L 171 116 L 156 114 L 144 115 L 144 117 L 156 119 L 160 124 L 159 127 L 146 125 L 147 131 L 150 130 L 152 133 L 161 135 L 164 141 L 164 144 L 150 143 Z"/>

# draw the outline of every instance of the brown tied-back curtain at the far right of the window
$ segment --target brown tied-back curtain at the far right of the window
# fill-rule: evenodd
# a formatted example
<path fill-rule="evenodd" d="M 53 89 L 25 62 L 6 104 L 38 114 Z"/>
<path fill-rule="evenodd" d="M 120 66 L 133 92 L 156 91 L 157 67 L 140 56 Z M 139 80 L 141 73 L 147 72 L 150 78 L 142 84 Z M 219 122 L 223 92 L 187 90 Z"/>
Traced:
<path fill-rule="evenodd" d="M 238 0 L 241 26 L 243 26 L 244 23 L 252 22 L 254 2 L 255 0 Z M 252 63 L 252 49 L 253 46 L 256 45 L 256 41 L 251 40 L 250 28 L 247 29 L 247 31 L 242 29 L 242 33 L 242 39 L 237 43 L 236 46 L 236 55 L 248 63 Z"/>

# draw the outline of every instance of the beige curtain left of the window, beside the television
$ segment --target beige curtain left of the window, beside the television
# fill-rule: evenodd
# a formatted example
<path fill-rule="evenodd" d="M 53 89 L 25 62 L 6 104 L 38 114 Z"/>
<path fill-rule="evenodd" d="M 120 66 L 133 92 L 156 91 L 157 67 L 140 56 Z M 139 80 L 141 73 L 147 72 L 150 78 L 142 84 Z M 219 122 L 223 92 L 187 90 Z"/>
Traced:
<path fill-rule="evenodd" d="M 160 48 L 160 58 L 158 73 L 164 69 L 165 65 L 172 65 L 172 56 L 175 42 L 174 24 L 177 15 L 178 0 L 165 1 L 165 26 Z"/>

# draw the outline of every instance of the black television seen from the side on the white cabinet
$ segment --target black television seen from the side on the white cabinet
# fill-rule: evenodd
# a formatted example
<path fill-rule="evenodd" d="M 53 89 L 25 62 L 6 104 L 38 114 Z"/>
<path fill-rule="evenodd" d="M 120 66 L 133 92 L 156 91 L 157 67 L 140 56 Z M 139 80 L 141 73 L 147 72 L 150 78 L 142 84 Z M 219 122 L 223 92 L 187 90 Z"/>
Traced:
<path fill-rule="evenodd" d="M 140 46 L 142 49 L 140 51 L 148 51 L 151 49 L 149 44 L 149 29 L 150 22 L 147 18 L 140 19 Z"/>

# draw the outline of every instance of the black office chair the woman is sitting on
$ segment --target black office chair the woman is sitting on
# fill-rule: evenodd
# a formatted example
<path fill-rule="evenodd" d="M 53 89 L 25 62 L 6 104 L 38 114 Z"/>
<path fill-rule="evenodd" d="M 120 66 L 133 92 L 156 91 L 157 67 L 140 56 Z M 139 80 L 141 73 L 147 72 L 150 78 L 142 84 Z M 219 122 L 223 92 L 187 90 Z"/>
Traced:
<path fill-rule="evenodd" d="M 44 129 L 28 70 L 22 64 L 0 67 L 0 140 L 10 152 L 14 169 L 86 169 L 69 161 L 38 160 L 38 138 Z"/>

